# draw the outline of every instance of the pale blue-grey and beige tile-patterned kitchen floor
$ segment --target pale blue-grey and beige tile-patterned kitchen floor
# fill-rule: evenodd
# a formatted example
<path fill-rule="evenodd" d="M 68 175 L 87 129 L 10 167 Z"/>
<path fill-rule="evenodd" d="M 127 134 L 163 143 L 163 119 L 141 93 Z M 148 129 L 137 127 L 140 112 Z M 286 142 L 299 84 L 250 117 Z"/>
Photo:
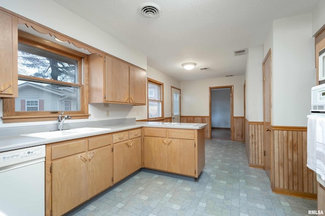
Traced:
<path fill-rule="evenodd" d="M 262 169 L 248 167 L 245 145 L 206 140 L 198 181 L 140 171 L 69 215 L 308 215 L 315 200 L 272 193 Z"/>

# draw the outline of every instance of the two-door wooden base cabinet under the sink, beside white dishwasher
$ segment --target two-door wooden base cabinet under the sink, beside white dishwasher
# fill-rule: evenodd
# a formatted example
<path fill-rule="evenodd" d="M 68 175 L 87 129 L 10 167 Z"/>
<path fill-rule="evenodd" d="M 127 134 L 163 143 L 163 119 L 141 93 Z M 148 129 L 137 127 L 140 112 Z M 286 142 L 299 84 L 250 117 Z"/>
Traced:
<path fill-rule="evenodd" d="M 112 136 L 46 147 L 46 215 L 62 215 L 112 186 Z"/>

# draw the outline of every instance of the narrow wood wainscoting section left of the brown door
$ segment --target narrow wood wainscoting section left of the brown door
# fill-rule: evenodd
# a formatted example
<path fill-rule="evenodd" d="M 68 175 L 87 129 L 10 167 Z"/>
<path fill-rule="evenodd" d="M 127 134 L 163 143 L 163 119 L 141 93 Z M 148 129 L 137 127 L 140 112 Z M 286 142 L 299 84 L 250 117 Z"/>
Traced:
<path fill-rule="evenodd" d="M 250 167 L 264 169 L 264 126 L 263 121 L 245 119 L 245 147 Z"/>

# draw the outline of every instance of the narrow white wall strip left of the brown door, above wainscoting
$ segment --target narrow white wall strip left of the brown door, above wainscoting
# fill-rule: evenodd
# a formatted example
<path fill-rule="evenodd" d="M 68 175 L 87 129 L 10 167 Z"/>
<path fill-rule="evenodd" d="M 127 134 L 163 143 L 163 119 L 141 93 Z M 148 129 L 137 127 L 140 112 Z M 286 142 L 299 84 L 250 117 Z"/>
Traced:
<path fill-rule="evenodd" d="M 263 121 L 263 46 L 248 49 L 245 83 L 248 121 Z"/>

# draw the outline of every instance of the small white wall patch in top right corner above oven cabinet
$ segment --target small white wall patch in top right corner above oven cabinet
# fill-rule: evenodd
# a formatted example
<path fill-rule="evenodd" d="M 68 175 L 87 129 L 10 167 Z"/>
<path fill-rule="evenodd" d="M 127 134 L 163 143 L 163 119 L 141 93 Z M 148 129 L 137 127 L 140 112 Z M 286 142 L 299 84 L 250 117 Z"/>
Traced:
<path fill-rule="evenodd" d="M 312 11 L 312 35 L 325 25 L 325 1 L 319 0 Z"/>

